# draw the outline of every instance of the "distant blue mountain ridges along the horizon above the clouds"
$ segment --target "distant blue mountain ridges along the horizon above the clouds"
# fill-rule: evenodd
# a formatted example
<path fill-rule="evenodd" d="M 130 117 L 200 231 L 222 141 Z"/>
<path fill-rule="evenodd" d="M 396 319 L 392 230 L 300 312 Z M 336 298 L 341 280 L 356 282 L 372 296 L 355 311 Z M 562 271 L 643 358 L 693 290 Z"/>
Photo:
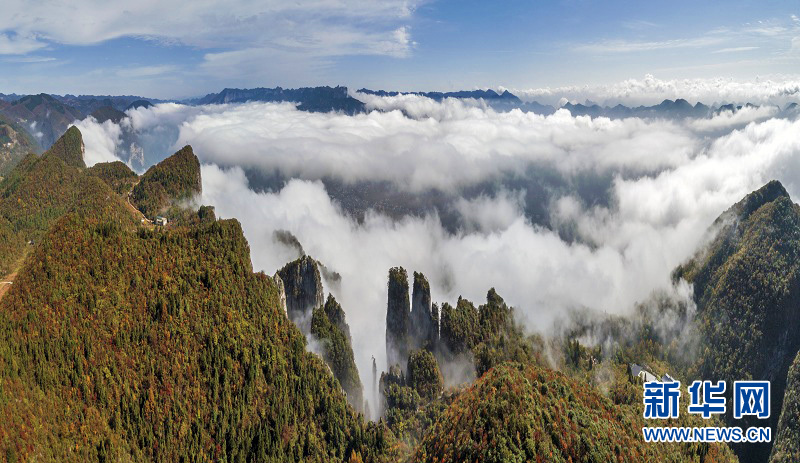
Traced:
<path fill-rule="evenodd" d="M 143 98 L 136 95 L 17 95 L 0 93 L 0 116 L 14 122 L 28 132 L 30 138 L 38 145 L 36 151 L 44 151 L 60 137 L 75 121 L 86 117 L 94 117 L 98 122 L 112 121 L 119 123 L 125 118 L 125 111 L 164 102 L 179 102 L 187 105 L 231 104 L 246 102 L 291 102 L 297 109 L 308 112 L 338 112 L 347 115 L 363 114 L 371 111 L 366 101 L 359 99 L 361 95 L 393 97 L 398 95 L 418 95 L 434 101 L 445 99 L 477 100 L 498 112 L 520 110 L 540 115 L 551 115 L 559 109 L 568 110 L 573 116 L 608 117 L 622 119 L 628 117 L 685 119 L 710 118 L 725 111 L 737 112 L 744 108 L 758 108 L 757 105 L 715 104 L 712 106 L 701 102 L 690 104 L 685 99 L 664 100 L 657 105 L 628 107 L 600 106 L 586 101 L 584 103 L 567 102 L 562 106 L 541 104 L 537 101 L 523 101 L 509 90 L 501 93 L 493 89 L 459 90 L 452 92 L 419 91 L 398 92 L 386 90 L 370 90 L 361 88 L 351 93 L 344 86 L 319 86 L 302 88 L 225 88 L 218 93 L 209 93 L 203 97 L 185 100 L 160 100 Z M 776 117 L 790 117 L 800 114 L 800 106 L 791 103 L 784 108 L 775 107 Z M 143 167 L 141 149 L 130 133 L 123 134 L 123 158 Z M 16 158 L 15 158 L 16 159 Z M 13 164 L 13 162 L 12 162 Z"/>

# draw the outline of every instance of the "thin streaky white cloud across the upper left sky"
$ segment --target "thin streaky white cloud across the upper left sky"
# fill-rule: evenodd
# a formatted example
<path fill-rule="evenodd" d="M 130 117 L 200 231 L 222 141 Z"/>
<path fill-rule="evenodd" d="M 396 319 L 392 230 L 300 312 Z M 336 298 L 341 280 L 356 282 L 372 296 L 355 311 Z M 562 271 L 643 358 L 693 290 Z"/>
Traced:
<path fill-rule="evenodd" d="M 0 31 L 10 34 L 0 34 L 0 54 L 29 53 L 49 43 L 94 45 L 136 37 L 222 50 L 206 55 L 204 66 L 212 71 L 223 63 L 244 63 L 244 51 L 251 63 L 262 64 L 253 72 L 298 62 L 306 64 L 298 72 L 308 71 L 332 56 L 406 56 L 413 46 L 407 22 L 420 1 L 202 0 L 176 8 L 153 0 L 7 0 Z"/>

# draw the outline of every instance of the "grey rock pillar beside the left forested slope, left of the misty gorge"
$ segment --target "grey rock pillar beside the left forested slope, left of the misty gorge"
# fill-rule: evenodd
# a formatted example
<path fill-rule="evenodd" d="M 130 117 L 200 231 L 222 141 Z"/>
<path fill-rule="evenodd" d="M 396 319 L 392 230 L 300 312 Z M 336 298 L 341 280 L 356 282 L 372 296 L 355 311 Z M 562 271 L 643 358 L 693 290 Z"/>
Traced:
<path fill-rule="evenodd" d="M 289 319 L 308 334 L 311 311 L 325 303 L 319 264 L 311 257 L 303 256 L 278 270 L 278 275 L 283 280 Z"/>

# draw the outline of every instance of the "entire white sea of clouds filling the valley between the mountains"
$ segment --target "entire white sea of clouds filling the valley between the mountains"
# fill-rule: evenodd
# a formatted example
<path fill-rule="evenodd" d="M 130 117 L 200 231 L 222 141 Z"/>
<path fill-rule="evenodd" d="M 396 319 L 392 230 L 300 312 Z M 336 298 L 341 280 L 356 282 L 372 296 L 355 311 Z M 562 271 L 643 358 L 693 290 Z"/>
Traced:
<path fill-rule="evenodd" d="M 385 367 L 392 266 L 423 272 L 437 302 L 480 303 L 495 287 L 529 329 L 544 331 L 571 309 L 626 314 L 654 291 L 674 291 L 670 272 L 709 239 L 713 220 L 769 180 L 800 198 L 800 120 L 770 108 L 674 121 L 495 112 L 419 96 L 368 104 L 380 110 L 161 104 L 129 110 L 120 125 L 77 125 L 87 164 L 116 160 L 125 133 L 148 165 L 191 144 L 202 162 L 200 202 L 242 223 L 255 269 L 272 274 L 297 257 L 275 238 L 284 230 L 338 272 L 341 282 L 326 290 L 347 313 L 365 384 L 372 356 Z M 283 182 L 255 188 L 248 172 Z M 547 220 L 534 221 L 525 190 L 543 185 L 541 172 L 555 178 L 544 185 L 559 187 L 541 198 Z M 355 217 L 330 181 L 380 181 L 447 200 L 400 217 L 377 208 Z M 459 226 L 445 227 L 444 213 Z"/>

